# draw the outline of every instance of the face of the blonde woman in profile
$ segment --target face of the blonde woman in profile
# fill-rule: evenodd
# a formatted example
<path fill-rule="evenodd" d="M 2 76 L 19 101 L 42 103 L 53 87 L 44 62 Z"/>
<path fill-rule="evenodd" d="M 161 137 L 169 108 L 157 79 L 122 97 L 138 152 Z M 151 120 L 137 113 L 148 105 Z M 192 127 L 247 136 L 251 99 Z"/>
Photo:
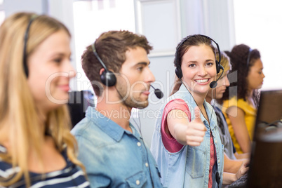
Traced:
<path fill-rule="evenodd" d="M 37 106 L 46 112 L 69 98 L 69 79 L 75 74 L 69 41 L 67 32 L 55 32 L 29 57 L 29 88 Z"/>

